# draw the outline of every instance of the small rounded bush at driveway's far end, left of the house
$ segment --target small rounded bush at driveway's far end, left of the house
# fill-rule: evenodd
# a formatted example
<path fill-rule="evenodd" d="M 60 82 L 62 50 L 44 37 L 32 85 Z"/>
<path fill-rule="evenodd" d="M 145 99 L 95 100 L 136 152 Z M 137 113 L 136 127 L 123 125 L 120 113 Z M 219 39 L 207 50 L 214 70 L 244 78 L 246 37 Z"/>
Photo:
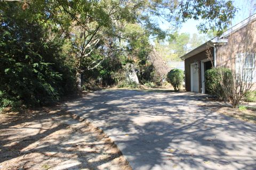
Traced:
<path fill-rule="evenodd" d="M 184 72 L 180 69 L 173 69 L 167 73 L 167 81 L 172 84 L 175 91 L 179 91 L 184 81 Z"/>

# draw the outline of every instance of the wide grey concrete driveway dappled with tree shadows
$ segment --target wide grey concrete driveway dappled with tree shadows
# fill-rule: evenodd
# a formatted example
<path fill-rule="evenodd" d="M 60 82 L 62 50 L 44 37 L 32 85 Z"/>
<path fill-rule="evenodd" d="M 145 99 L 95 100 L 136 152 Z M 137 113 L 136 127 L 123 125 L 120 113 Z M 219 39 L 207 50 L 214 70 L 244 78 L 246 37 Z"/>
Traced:
<path fill-rule="evenodd" d="M 102 90 L 66 103 L 101 128 L 133 169 L 256 169 L 256 125 L 191 92 Z"/>

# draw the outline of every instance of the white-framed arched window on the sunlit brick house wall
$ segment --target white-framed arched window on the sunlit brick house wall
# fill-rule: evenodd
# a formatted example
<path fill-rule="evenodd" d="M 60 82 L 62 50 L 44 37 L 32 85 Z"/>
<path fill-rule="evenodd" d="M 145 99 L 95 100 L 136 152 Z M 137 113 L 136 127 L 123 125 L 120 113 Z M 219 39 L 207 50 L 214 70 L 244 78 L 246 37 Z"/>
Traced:
<path fill-rule="evenodd" d="M 253 54 L 248 54 L 245 57 L 244 60 L 244 66 L 243 66 L 243 80 L 254 82 L 255 75 L 254 75 L 254 56 Z"/>

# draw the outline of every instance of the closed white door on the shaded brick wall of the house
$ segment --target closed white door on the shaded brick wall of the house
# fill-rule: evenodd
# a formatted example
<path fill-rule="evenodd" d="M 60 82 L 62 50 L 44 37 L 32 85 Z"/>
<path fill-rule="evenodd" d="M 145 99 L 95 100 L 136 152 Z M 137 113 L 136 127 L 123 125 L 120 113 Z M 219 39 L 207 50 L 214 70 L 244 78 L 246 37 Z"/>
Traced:
<path fill-rule="evenodd" d="M 198 64 L 190 65 L 191 91 L 199 92 Z"/>

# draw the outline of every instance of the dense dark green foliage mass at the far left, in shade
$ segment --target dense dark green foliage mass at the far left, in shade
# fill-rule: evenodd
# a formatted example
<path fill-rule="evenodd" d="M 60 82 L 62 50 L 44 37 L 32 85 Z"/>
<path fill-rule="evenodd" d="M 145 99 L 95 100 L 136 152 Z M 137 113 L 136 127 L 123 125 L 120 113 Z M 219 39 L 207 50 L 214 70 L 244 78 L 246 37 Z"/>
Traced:
<path fill-rule="evenodd" d="M 63 40 L 47 39 L 47 30 L 26 20 L 21 6 L 1 8 L 0 107 L 50 104 L 74 92 L 73 70 L 61 54 Z"/>

